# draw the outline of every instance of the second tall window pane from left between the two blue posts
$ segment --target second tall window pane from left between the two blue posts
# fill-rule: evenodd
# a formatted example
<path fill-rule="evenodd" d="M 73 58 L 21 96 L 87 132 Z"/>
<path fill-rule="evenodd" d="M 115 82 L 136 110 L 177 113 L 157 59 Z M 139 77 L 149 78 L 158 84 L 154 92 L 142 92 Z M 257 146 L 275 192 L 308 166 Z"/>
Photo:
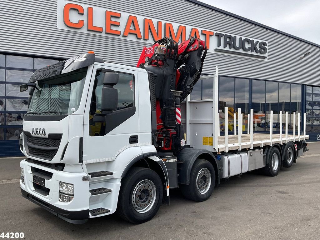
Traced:
<path fill-rule="evenodd" d="M 270 130 L 271 117 L 270 111 L 273 111 L 273 130 L 278 129 L 278 83 L 266 82 L 266 131 Z"/>

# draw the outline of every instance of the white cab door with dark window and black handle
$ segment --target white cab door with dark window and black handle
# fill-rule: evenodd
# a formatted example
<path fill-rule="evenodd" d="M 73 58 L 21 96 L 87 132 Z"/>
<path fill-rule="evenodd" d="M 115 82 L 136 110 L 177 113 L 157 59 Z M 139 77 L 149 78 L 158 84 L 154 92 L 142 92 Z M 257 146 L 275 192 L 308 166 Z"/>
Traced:
<path fill-rule="evenodd" d="M 118 108 L 106 115 L 103 123 L 93 122 L 93 115 L 101 113 L 103 73 L 111 69 L 119 74 Z M 83 163 L 113 161 L 129 147 L 139 146 L 139 106 L 137 72 L 122 68 L 95 66 L 92 73 L 84 113 Z"/>

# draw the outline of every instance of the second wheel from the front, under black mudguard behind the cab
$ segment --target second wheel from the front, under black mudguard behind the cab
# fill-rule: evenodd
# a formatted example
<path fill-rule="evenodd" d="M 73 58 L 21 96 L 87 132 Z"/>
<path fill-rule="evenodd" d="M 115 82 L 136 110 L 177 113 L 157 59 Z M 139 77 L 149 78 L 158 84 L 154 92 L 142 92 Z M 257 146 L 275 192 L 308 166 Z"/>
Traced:
<path fill-rule="evenodd" d="M 190 173 L 190 184 L 180 185 L 181 192 L 186 198 L 203 202 L 213 192 L 216 174 L 212 164 L 204 159 L 196 159 Z"/>

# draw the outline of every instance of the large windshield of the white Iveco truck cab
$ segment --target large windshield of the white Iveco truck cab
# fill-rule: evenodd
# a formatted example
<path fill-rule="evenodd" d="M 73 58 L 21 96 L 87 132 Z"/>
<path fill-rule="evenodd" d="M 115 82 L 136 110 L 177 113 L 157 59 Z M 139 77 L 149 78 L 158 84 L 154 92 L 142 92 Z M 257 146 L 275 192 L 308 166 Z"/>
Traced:
<path fill-rule="evenodd" d="M 80 105 L 87 68 L 39 80 L 27 115 L 69 115 Z"/>

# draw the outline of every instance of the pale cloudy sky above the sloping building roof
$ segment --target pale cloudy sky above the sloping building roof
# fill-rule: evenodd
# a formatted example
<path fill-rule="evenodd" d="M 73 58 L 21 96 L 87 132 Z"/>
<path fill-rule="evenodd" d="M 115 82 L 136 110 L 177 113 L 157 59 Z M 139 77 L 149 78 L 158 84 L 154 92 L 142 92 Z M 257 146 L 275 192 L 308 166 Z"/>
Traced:
<path fill-rule="evenodd" d="M 320 44 L 320 0 L 199 0 Z"/>

